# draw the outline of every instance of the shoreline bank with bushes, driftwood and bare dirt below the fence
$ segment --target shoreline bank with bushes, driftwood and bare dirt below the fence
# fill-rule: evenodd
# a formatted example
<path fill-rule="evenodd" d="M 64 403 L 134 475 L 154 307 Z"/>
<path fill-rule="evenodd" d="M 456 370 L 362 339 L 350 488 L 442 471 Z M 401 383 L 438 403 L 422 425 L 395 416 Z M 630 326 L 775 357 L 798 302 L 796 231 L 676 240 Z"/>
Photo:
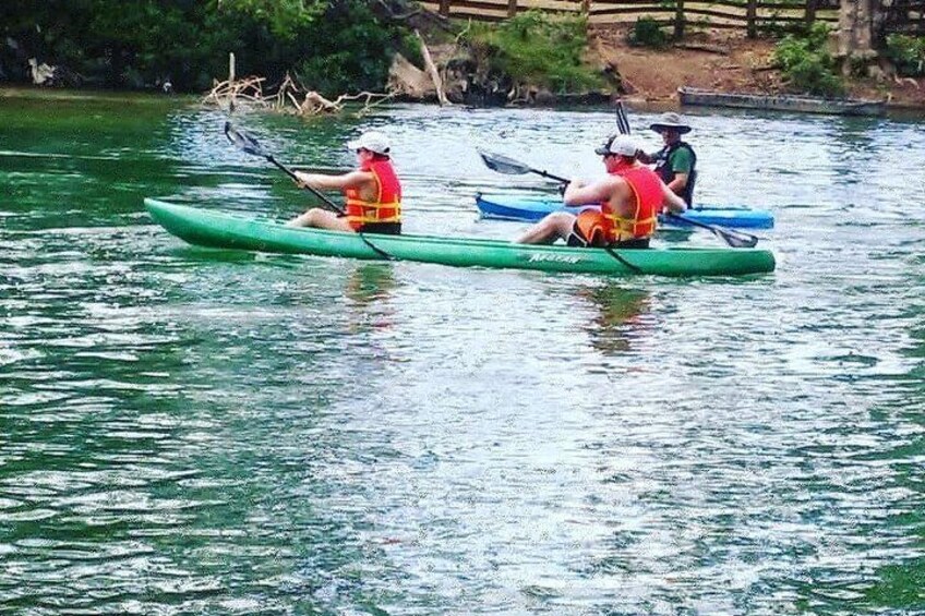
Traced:
<path fill-rule="evenodd" d="M 207 105 L 301 116 L 388 100 L 671 106 L 682 86 L 925 109 L 922 37 L 890 35 L 876 57 L 848 64 L 825 23 L 778 38 L 699 28 L 675 40 L 648 17 L 606 27 L 540 11 L 459 21 L 406 0 L 99 0 L 80 15 L 25 4 L 3 12 L 5 87 L 206 93 Z"/>

